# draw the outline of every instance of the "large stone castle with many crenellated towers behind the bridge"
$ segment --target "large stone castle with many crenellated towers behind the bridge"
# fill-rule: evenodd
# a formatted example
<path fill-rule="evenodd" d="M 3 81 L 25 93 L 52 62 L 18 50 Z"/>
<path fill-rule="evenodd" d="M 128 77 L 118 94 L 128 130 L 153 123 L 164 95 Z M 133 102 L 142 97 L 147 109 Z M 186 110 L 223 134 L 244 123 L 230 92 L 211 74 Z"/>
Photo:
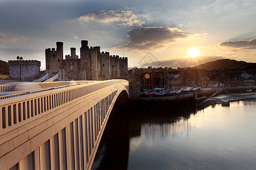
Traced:
<path fill-rule="evenodd" d="M 122 78 L 128 73 L 127 57 L 110 56 L 109 52 L 100 52 L 100 46 L 88 46 L 81 41 L 80 58 L 76 48 L 63 59 L 63 42 L 56 42 L 55 48 L 46 49 L 46 70 L 51 74 L 61 73 L 61 80 L 98 80 Z"/>

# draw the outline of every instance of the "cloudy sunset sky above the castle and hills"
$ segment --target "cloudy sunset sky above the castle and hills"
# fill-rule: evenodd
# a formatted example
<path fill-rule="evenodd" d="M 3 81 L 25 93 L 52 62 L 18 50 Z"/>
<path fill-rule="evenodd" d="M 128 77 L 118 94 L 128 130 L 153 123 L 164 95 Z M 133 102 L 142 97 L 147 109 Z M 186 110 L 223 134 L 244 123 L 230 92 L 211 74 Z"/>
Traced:
<path fill-rule="evenodd" d="M 129 67 L 189 56 L 256 62 L 256 1 L 0 1 L 0 59 L 41 61 L 64 42 L 81 40 L 128 57 Z M 191 53 L 190 53 L 191 54 Z M 197 58 L 197 57 L 195 57 Z"/>

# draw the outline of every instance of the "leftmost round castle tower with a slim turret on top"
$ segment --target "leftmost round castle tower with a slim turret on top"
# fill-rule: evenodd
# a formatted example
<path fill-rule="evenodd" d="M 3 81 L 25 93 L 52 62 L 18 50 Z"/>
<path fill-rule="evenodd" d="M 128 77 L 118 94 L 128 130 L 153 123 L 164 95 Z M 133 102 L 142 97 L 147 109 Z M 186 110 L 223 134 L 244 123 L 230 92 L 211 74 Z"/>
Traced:
<path fill-rule="evenodd" d="M 57 49 L 46 49 L 46 70 L 51 70 L 52 73 L 59 72 L 62 69 L 63 61 L 63 42 L 56 42 Z"/>

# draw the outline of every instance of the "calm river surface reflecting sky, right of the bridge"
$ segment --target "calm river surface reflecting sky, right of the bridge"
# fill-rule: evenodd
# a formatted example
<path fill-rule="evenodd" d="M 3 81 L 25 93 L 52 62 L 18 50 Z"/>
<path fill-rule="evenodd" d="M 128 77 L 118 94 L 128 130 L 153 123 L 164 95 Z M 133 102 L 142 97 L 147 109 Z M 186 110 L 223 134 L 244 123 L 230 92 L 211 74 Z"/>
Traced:
<path fill-rule="evenodd" d="M 255 96 L 116 109 L 92 169 L 255 169 Z"/>

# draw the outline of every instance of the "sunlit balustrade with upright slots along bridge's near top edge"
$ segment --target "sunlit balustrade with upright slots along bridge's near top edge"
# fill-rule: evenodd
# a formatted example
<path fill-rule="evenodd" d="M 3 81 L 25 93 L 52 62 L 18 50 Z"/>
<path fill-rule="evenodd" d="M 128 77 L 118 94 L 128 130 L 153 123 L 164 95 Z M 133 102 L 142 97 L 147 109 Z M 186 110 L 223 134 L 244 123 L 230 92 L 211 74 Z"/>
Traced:
<path fill-rule="evenodd" d="M 20 97 L 0 100 L 0 136 L 20 125 L 34 120 L 34 117 L 59 107 L 69 101 L 101 88 L 111 86 L 122 80 L 79 84 L 77 87 L 59 88 Z"/>

